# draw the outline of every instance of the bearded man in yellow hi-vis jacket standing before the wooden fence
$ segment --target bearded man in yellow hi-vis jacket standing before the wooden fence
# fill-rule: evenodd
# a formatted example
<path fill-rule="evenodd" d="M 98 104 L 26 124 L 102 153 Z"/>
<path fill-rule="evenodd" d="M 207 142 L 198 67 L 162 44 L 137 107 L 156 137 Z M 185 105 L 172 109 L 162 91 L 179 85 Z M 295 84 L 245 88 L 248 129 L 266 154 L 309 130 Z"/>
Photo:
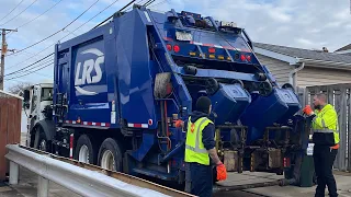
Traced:
<path fill-rule="evenodd" d="M 315 172 L 317 188 L 315 197 L 324 197 L 326 186 L 329 196 L 336 197 L 337 184 L 332 175 L 332 165 L 339 149 L 338 115 L 332 105 L 327 104 L 327 96 L 322 93 L 314 96 L 314 108 L 309 105 L 303 112 L 313 118 L 312 131 L 314 146 Z"/>

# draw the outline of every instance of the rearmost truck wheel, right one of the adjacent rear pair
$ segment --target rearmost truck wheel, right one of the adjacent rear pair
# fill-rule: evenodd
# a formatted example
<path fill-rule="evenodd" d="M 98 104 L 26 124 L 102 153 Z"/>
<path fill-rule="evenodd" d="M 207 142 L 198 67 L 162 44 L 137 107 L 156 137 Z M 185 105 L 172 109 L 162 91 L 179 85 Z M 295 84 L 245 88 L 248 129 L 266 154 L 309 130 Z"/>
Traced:
<path fill-rule="evenodd" d="M 99 150 L 99 165 L 110 171 L 122 171 L 122 151 L 112 138 L 105 139 Z"/>

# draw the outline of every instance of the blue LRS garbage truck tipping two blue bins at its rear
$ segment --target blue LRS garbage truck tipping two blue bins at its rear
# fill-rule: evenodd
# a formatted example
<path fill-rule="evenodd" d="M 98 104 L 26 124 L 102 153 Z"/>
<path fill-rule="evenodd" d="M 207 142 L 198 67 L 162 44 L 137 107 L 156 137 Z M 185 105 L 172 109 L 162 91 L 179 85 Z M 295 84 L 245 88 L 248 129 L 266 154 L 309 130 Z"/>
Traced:
<path fill-rule="evenodd" d="M 31 121 L 30 146 L 182 184 L 186 130 L 174 121 L 186 120 L 206 95 L 227 171 L 282 174 L 302 144 L 295 115 L 301 104 L 252 48 L 234 22 L 138 5 L 117 12 L 56 45 L 54 83 L 45 88 L 52 103 L 42 107 L 44 118 Z M 41 93 L 33 86 L 25 102 L 37 105 L 33 96 Z"/>

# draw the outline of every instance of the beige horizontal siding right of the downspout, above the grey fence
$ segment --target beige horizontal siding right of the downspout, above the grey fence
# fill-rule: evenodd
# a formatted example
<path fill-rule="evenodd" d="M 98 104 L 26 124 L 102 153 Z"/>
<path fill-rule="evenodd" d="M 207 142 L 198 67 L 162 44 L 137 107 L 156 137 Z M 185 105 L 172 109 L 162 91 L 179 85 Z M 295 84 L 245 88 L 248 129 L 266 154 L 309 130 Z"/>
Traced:
<path fill-rule="evenodd" d="M 351 83 L 351 71 L 305 66 L 296 76 L 297 86 Z"/>

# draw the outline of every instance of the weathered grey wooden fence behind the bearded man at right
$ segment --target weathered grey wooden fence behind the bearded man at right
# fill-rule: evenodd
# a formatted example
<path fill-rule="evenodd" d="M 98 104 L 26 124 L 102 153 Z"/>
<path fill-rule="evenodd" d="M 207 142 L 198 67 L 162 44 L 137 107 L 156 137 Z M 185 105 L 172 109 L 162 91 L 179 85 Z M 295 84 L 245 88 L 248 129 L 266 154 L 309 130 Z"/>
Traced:
<path fill-rule="evenodd" d="M 312 105 L 314 95 L 320 92 L 325 93 L 327 95 L 327 102 L 335 106 L 338 113 L 340 129 L 340 149 L 335 162 L 335 169 L 349 172 L 351 171 L 351 135 L 349 132 L 349 129 L 351 127 L 350 91 L 351 83 L 297 89 L 302 106 L 305 106 L 306 104 Z"/>

